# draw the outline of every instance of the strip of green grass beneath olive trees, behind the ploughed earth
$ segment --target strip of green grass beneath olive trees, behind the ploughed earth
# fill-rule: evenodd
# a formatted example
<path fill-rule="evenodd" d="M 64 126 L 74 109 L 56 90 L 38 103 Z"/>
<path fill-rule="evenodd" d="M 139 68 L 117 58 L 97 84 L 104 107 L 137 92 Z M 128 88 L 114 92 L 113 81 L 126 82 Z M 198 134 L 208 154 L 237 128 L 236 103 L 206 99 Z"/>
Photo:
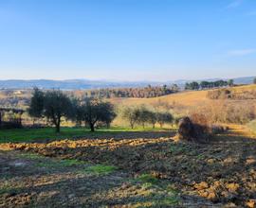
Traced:
<path fill-rule="evenodd" d="M 7 142 L 36 142 L 39 139 L 64 139 L 80 136 L 101 135 L 104 133 L 120 133 L 127 131 L 149 131 L 160 129 L 127 129 L 127 128 L 111 128 L 99 129 L 91 132 L 85 128 L 62 128 L 61 133 L 56 133 L 54 128 L 45 129 L 16 129 L 16 130 L 0 130 L 0 143 Z"/>

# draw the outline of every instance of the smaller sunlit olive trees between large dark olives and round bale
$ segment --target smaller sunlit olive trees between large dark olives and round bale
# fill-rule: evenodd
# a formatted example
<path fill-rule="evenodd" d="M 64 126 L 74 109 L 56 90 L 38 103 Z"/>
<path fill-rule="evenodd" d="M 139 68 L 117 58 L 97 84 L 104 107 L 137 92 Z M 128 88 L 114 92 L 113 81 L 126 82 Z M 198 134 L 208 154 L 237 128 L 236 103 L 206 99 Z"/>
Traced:
<path fill-rule="evenodd" d="M 164 124 L 172 124 L 174 117 L 168 112 L 158 112 L 151 110 L 144 105 L 141 106 L 128 106 L 122 110 L 121 116 L 124 120 L 128 121 L 130 127 L 134 129 L 135 125 L 151 124 L 155 128 L 158 123 L 162 128 Z"/>

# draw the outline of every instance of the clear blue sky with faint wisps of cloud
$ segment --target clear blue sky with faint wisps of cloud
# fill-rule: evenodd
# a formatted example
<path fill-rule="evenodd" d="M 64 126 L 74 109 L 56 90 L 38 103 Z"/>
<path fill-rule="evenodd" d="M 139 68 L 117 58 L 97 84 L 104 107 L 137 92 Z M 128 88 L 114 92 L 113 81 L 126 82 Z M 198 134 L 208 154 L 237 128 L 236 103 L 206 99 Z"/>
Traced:
<path fill-rule="evenodd" d="M 0 0 L 0 79 L 247 76 L 255 0 Z"/>

